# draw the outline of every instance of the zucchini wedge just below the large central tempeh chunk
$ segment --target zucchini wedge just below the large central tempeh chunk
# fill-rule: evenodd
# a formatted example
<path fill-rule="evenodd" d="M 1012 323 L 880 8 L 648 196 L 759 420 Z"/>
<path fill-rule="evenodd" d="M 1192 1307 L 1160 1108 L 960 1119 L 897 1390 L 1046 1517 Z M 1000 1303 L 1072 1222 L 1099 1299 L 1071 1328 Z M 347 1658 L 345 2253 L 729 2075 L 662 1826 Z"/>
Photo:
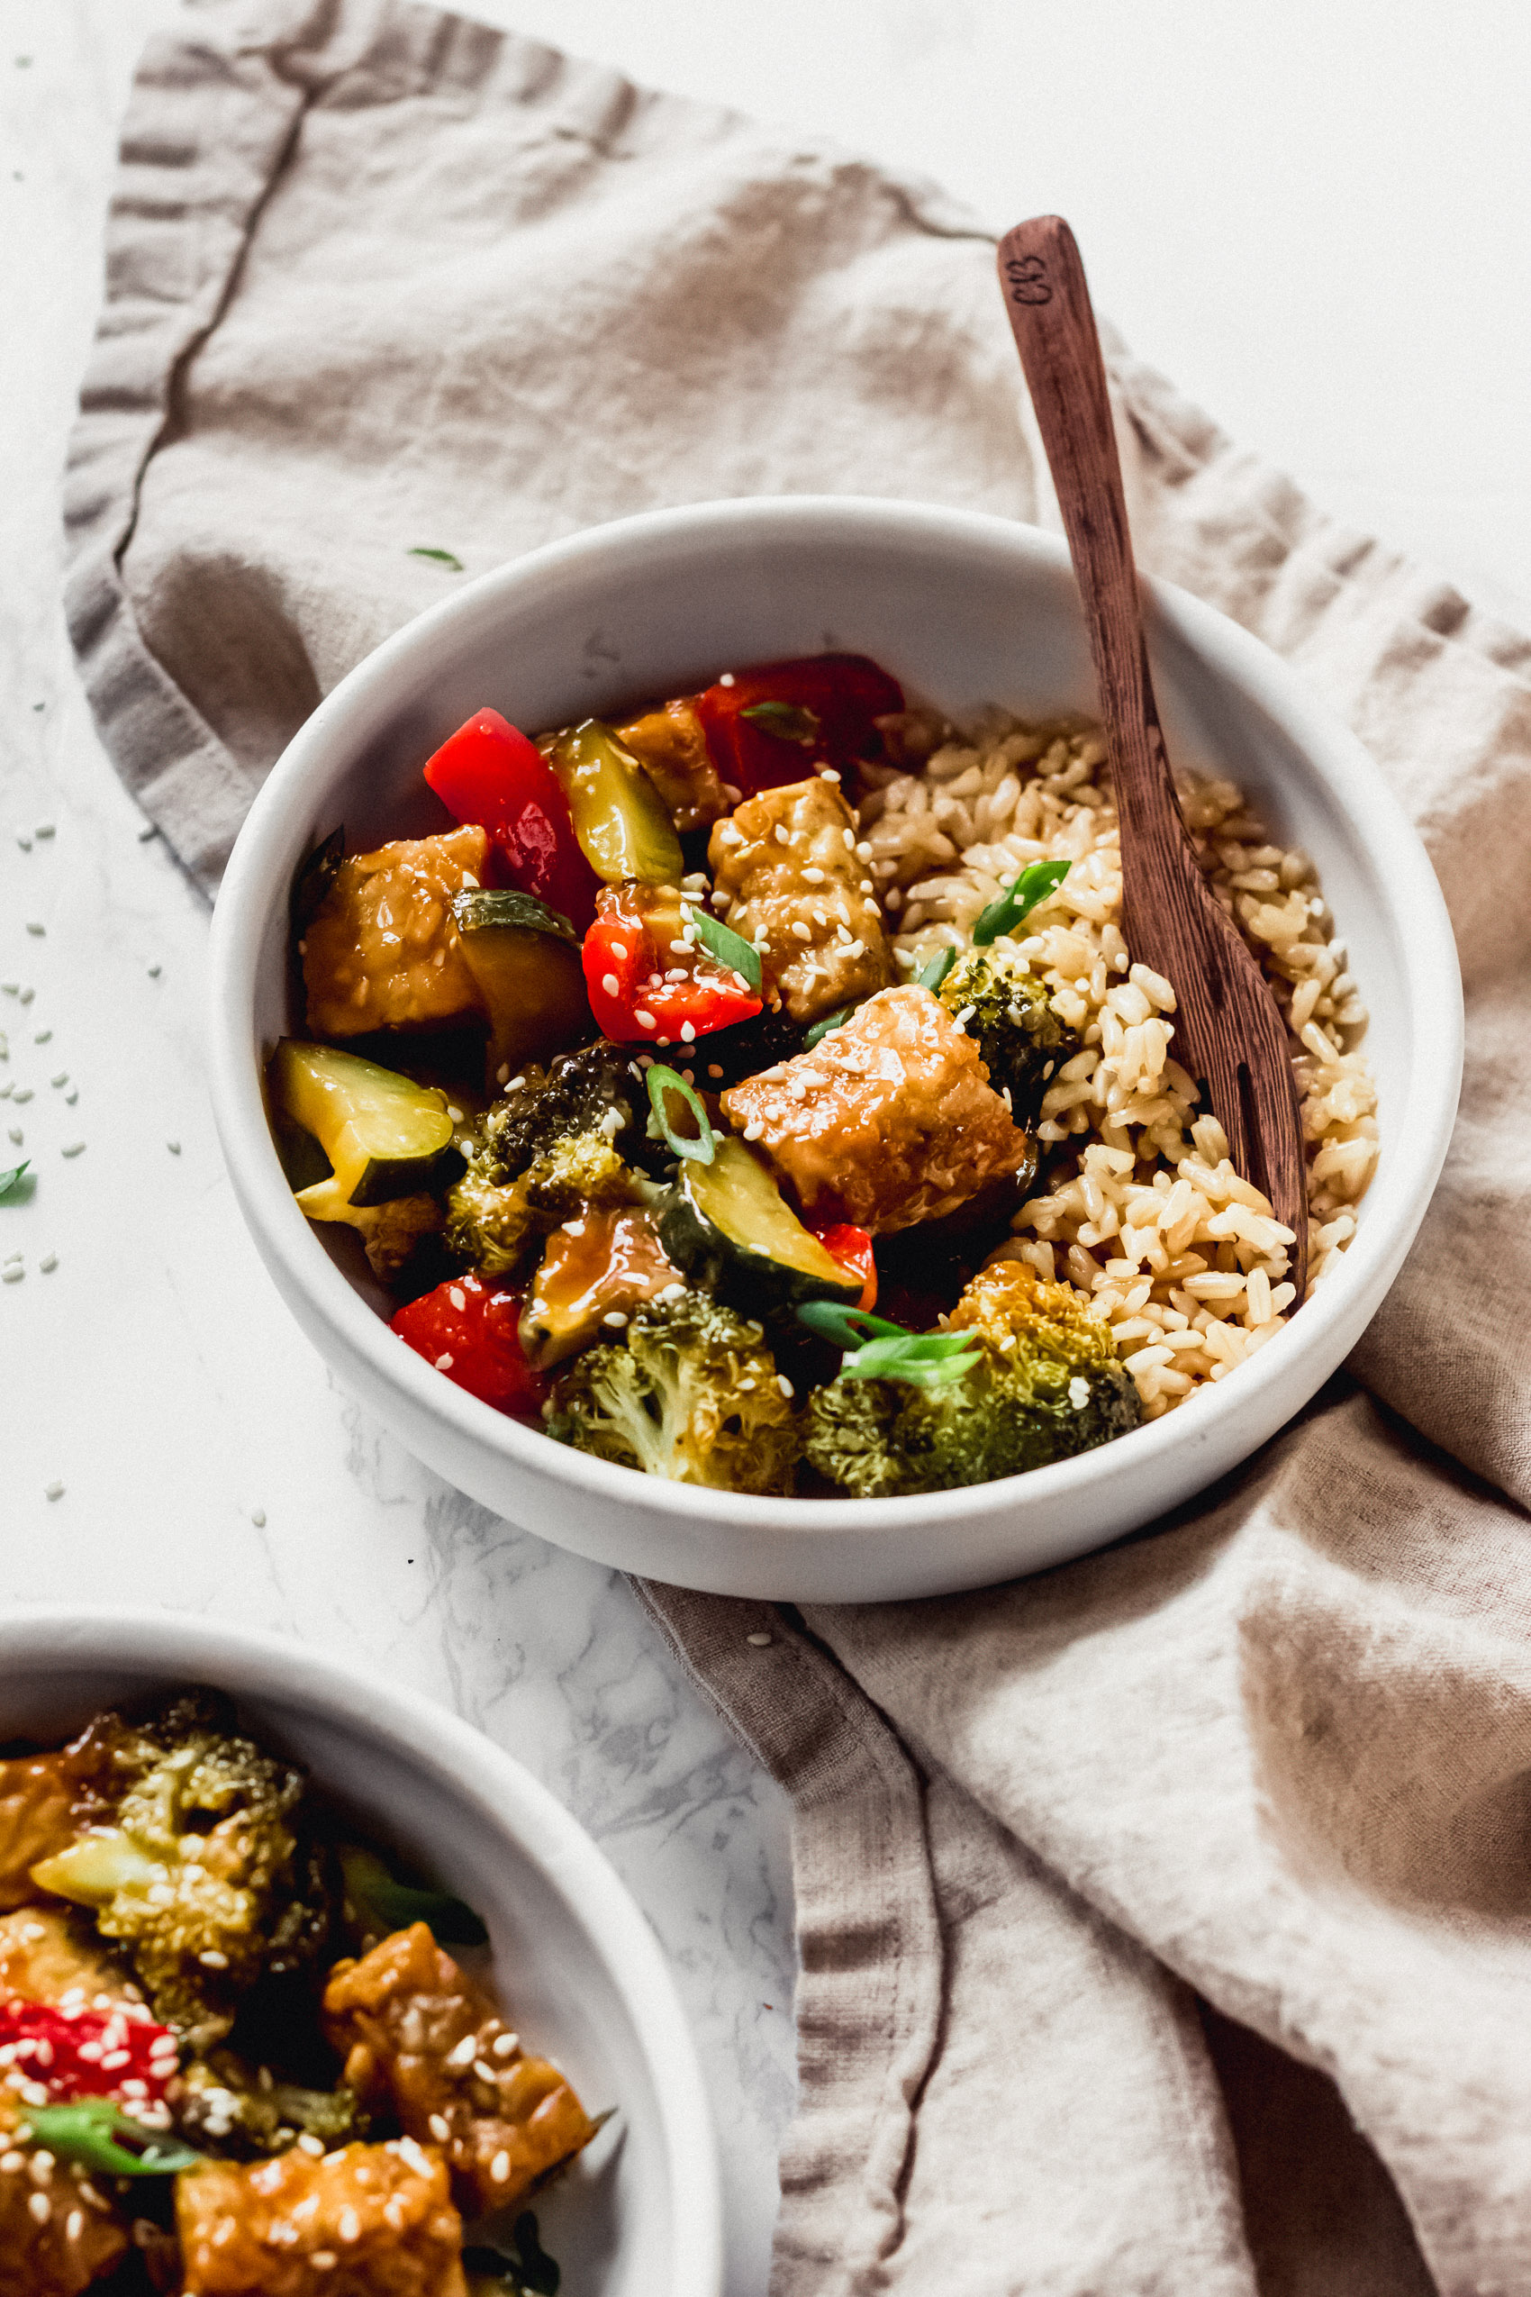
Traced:
<path fill-rule="evenodd" d="M 861 1279 L 808 1233 L 769 1167 L 737 1137 L 718 1142 L 712 1165 L 682 1167 L 659 1236 L 677 1268 L 730 1305 L 861 1300 Z"/>

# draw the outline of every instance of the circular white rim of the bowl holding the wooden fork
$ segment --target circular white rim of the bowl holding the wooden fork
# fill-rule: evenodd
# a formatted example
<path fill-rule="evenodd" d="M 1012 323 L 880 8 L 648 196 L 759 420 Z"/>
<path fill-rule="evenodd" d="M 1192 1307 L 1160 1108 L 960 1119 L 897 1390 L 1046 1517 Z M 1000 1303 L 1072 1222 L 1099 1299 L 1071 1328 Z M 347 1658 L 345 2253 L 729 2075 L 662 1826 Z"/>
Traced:
<path fill-rule="evenodd" d="M 1017 519 L 980 510 L 955 510 L 939 503 L 916 503 L 895 496 L 796 494 L 737 496 L 686 503 L 668 510 L 645 510 L 583 528 L 558 542 L 510 558 L 450 597 L 429 606 L 393 636 L 383 639 L 319 703 L 292 737 L 234 843 L 230 866 L 213 910 L 209 949 L 209 1075 L 223 1153 L 234 1192 L 257 1243 L 287 1284 L 305 1296 L 337 1344 L 358 1355 L 383 1387 L 402 1394 L 413 1413 L 445 1422 L 466 1445 L 491 1452 L 512 1465 L 530 1468 L 608 1502 L 636 1500 L 634 1470 L 592 1459 L 567 1445 L 555 1445 L 533 1426 L 507 1420 L 489 1403 L 443 1380 L 413 1348 L 399 1346 L 383 1318 L 353 1291 L 324 1247 L 312 1238 L 271 1142 L 259 1064 L 250 1059 L 250 1015 L 257 985 L 257 956 L 275 894 L 275 864 L 285 843 L 285 818 L 301 804 L 308 776 L 324 760 L 333 733 L 351 710 L 365 707 L 381 687 L 411 675 L 425 682 L 438 636 L 457 622 L 487 616 L 498 602 L 521 588 L 544 586 L 583 574 L 611 554 L 654 554 L 668 542 L 718 537 L 730 547 L 748 544 L 751 533 L 776 540 L 799 533 L 803 547 L 824 537 L 824 526 L 847 537 L 881 537 L 904 544 L 966 544 L 978 554 L 1010 554 L 1019 570 L 1028 563 L 1049 572 L 1067 572 L 1070 556 L 1060 535 Z M 891 1500 L 842 1498 L 769 1498 L 755 1493 L 714 1491 L 712 1486 L 666 1484 L 654 1491 L 645 1477 L 643 1500 L 673 1518 L 700 1528 L 735 1532 L 771 1530 L 790 1544 L 813 1544 L 817 1534 L 845 1537 L 847 1509 L 856 1509 L 856 1528 L 868 1539 L 930 1525 L 932 1530 L 992 1514 L 996 1507 L 1024 1514 L 1028 1500 L 1088 1505 L 1088 1493 L 1122 1472 L 1122 1443 L 1136 1449 L 1132 1459 L 1148 1475 L 1157 1459 L 1184 1443 L 1212 1443 L 1230 1417 L 1253 1401 L 1256 1392 L 1279 1380 L 1295 1355 L 1322 1353 L 1334 1335 L 1354 1321 L 1359 1296 L 1375 1289 L 1377 1302 L 1391 1284 L 1435 1190 L 1451 1128 L 1455 1123 L 1462 1075 L 1462 985 L 1455 937 L 1435 871 L 1419 832 L 1382 779 L 1380 767 L 1357 735 L 1327 705 L 1308 696 L 1292 668 L 1260 639 L 1251 636 L 1214 606 L 1157 577 L 1141 577 L 1150 655 L 1155 641 L 1180 641 L 1221 680 L 1239 687 L 1249 701 L 1279 724 L 1288 737 L 1318 765 L 1327 795 L 1347 820 L 1361 848 L 1386 854 L 1391 923 L 1398 930 L 1400 962 L 1407 979 L 1414 1043 L 1430 1045 L 1430 1061 L 1409 1064 L 1409 1080 L 1393 1148 L 1368 1188 L 1375 1211 L 1340 1254 L 1338 1268 L 1260 1353 L 1196 1399 L 1196 1413 L 1164 1413 L 1111 1445 L 1099 1445 L 1067 1461 L 1035 1468 L 1021 1477 L 992 1484 L 969 1484 L 957 1491 L 918 1493 Z M 1336 772 L 1343 767 L 1343 774 Z M 1366 818 L 1366 822 L 1361 820 Z M 285 898 L 285 884 L 280 898 Z M 1363 1323 L 1366 1318 L 1361 1318 Z M 1359 1325 L 1357 1325 L 1359 1330 Z M 1334 1348 L 1345 1353 L 1350 1339 Z M 1283 1415 L 1288 1417 L 1288 1415 Z"/>

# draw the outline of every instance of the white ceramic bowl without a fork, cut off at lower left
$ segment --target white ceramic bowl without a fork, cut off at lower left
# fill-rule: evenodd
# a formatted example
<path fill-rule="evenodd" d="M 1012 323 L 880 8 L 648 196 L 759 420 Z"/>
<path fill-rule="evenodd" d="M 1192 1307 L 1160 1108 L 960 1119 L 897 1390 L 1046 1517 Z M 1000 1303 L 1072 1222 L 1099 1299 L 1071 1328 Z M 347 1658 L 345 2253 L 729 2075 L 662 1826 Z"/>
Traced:
<path fill-rule="evenodd" d="M 475 1907 L 528 2044 L 620 2120 L 537 2198 L 565 2288 L 716 2297 L 712 2118 L 670 1973 L 594 1842 L 519 1762 L 443 1707 L 275 1635 L 168 1612 L 0 1617 L 0 1739 L 50 1743 L 168 1684 L 227 1691 L 376 1840 Z"/>

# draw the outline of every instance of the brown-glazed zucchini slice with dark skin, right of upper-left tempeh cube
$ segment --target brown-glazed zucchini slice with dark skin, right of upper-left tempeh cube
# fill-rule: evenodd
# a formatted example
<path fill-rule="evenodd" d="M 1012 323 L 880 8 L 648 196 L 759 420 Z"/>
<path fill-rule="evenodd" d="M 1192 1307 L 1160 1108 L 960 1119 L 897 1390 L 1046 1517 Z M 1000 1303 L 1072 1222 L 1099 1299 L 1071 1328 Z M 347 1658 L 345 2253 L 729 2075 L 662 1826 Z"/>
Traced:
<path fill-rule="evenodd" d="M 549 1061 L 594 1036 L 581 942 L 567 917 L 535 894 L 468 887 L 452 898 L 452 923 L 489 1013 L 491 1093 L 500 1070 L 510 1075 L 526 1061 Z"/>

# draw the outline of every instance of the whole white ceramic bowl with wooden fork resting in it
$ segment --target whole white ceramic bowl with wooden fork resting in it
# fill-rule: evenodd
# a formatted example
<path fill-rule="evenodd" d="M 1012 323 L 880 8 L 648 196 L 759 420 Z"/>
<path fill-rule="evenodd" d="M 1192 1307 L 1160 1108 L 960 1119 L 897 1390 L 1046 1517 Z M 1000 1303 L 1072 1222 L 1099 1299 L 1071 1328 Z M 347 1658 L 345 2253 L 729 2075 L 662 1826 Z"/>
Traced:
<path fill-rule="evenodd" d="M 764 1500 L 663 1484 L 551 1443 L 454 1387 L 381 1321 L 349 1236 L 298 1213 L 271 1146 L 262 1059 L 287 1013 L 287 889 L 337 822 L 353 848 L 441 822 L 420 765 L 482 705 L 526 728 L 693 689 L 730 664 L 845 648 L 962 717 L 1093 710 L 1063 542 L 920 503 L 787 496 L 601 526 L 466 583 L 388 639 L 278 760 L 213 917 L 211 1080 L 255 1243 L 351 1387 L 487 1507 L 606 1564 L 723 1594 L 870 1601 L 980 1587 L 1102 1546 L 1246 1459 L 1377 1309 L 1446 1153 L 1462 997 L 1419 838 L 1361 749 L 1233 622 L 1148 586 L 1171 756 L 1233 774 L 1304 845 L 1373 1024 L 1382 1158 L 1343 1266 L 1187 1410 L 1081 1459 L 914 1500 Z"/>

